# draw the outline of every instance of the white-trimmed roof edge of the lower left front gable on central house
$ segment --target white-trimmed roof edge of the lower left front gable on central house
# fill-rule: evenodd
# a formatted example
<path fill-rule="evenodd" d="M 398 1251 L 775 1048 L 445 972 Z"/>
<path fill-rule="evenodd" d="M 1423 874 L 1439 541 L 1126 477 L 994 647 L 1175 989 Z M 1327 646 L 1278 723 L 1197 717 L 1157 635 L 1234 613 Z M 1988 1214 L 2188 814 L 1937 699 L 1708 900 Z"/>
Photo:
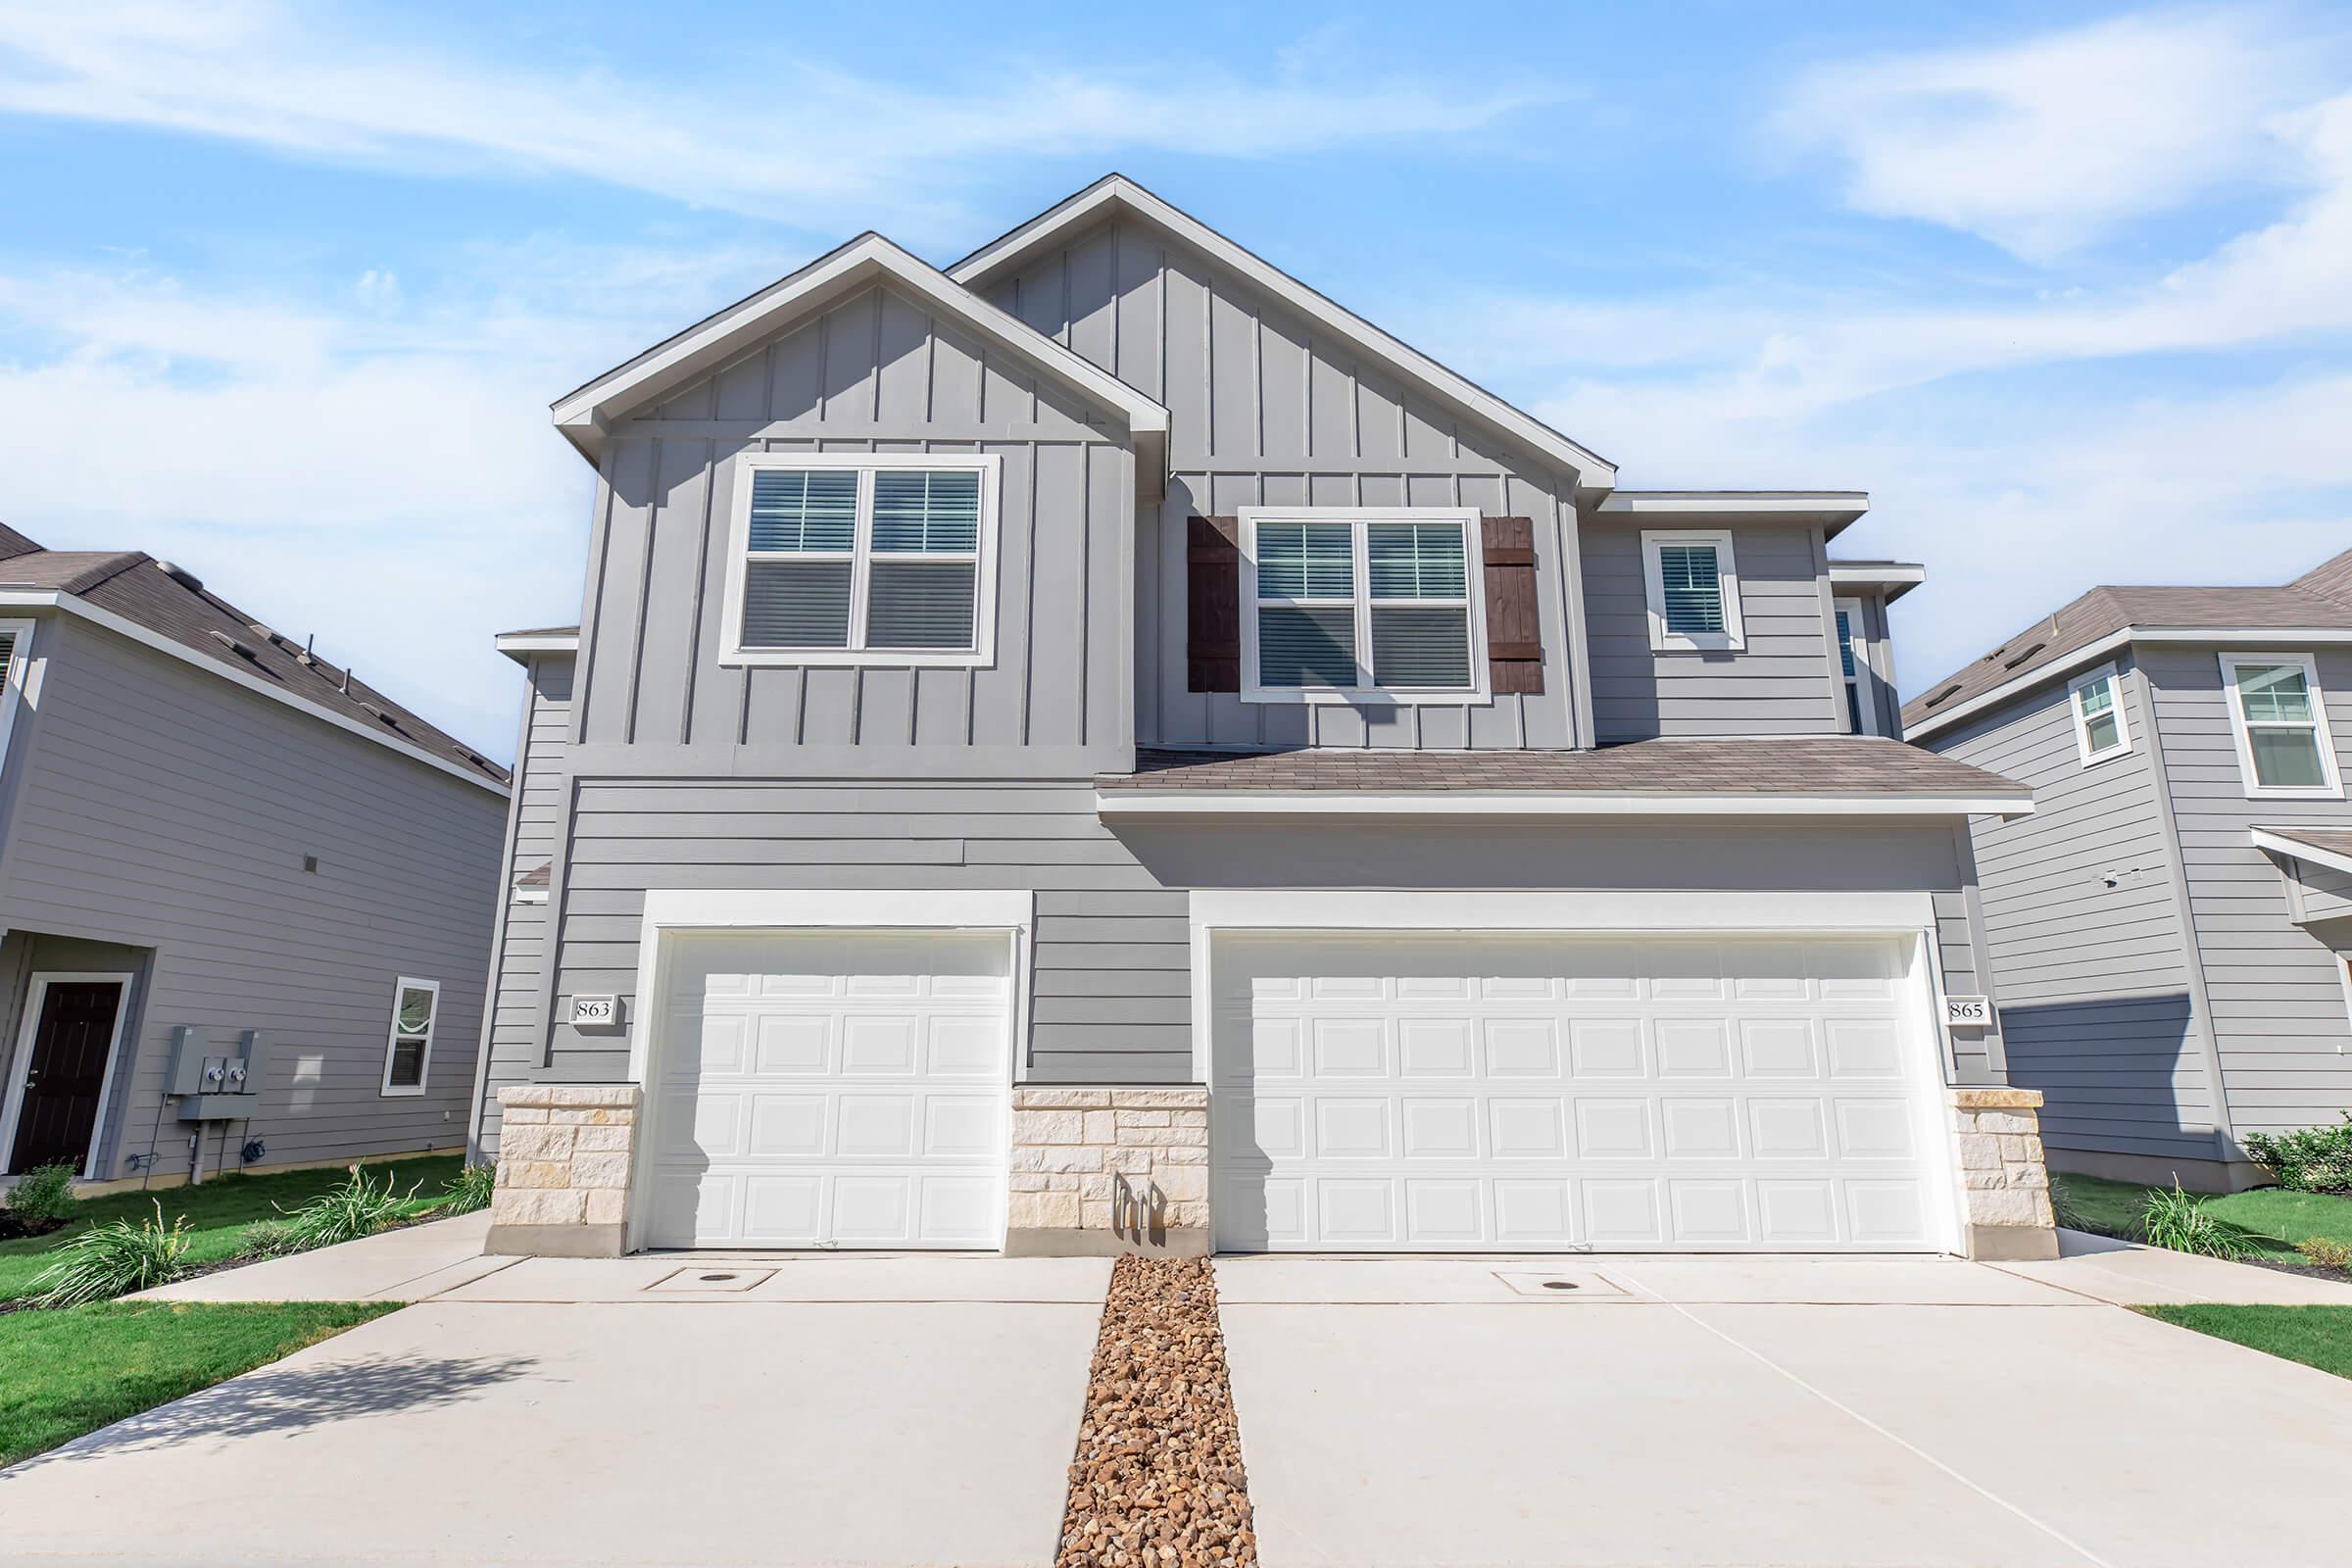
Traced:
<path fill-rule="evenodd" d="M 760 339 L 781 331 L 795 317 L 847 299 L 880 280 L 894 282 L 931 310 L 960 320 L 978 336 L 1028 360 L 1082 397 L 1120 414 L 1136 435 L 1136 444 L 1155 458 L 1164 449 L 1169 428 L 1167 409 L 1117 376 L 1096 369 L 1082 355 L 1070 353 L 1028 322 L 957 287 L 946 273 L 910 256 L 873 230 L 818 256 L 797 273 L 779 277 L 717 315 L 687 327 L 677 336 L 647 348 L 635 360 L 616 364 L 588 386 L 557 397 L 553 404 L 555 428 L 583 456 L 595 461 L 612 421 L 626 418 L 633 409 L 720 369 Z"/>

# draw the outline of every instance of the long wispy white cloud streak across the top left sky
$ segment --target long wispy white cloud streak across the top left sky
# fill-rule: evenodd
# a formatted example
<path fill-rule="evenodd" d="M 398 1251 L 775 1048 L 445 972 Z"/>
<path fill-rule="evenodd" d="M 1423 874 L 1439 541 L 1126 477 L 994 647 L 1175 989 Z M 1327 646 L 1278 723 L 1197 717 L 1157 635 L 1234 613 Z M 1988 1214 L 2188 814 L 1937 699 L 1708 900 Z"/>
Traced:
<path fill-rule="evenodd" d="M 1014 155 L 1148 148 L 1223 158 L 1475 132 L 1555 92 L 1416 78 L 1270 78 L 1185 66 L 1007 68 L 978 87 L 884 82 L 739 52 L 734 78 L 673 85 L 332 35 L 263 0 L 14 5 L 0 24 L 0 110 L 226 136 L 315 158 L 426 169 L 527 169 L 830 230 L 955 228 L 936 195 Z"/>

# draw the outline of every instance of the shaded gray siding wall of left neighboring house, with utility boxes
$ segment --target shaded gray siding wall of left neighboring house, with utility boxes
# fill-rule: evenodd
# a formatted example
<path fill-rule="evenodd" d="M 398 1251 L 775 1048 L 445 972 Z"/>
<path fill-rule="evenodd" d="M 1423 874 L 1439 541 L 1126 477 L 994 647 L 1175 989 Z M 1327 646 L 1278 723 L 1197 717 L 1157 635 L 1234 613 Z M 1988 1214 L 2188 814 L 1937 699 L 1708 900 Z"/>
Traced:
<path fill-rule="evenodd" d="M 0 924 L 155 954 L 99 1175 L 151 1143 L 188 1168 L 188 1128 L 155 1131 L 181 1023 L 270 1032 L 256 1112 L 207 1126 L 207 1168 L 245 1138 L 263 1164 L 463 1145 L 506 799 L 71 616 L 38 656 Z M 426 1093 L 386 1098 L 400 976 L 437 980 L 440 1011 Z"/>

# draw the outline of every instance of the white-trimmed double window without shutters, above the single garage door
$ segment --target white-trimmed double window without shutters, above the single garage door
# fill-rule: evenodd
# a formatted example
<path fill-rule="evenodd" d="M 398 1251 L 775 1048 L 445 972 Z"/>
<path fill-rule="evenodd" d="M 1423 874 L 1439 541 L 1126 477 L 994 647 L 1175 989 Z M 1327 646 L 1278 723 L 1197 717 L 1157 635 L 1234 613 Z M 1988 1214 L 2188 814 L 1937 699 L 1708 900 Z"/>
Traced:
<path fill-rule="evenodd" d="M 720 658 L 990 663 L 997 482 L 993 454 L 746 454 Z"/>

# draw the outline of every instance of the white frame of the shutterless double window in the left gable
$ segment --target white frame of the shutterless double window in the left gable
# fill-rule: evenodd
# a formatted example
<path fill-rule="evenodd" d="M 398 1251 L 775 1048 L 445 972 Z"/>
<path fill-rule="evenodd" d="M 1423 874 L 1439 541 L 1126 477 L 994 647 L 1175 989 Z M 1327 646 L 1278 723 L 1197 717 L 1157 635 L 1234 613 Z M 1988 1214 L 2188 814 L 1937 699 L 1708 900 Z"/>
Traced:
<path fill-rule="evenodd" d="M 793 550 L 762 552 L 760 559 L 790 562 L 849 562 L 849 646 L 847 649 L 746 649 L 743 646 L 743 583 L 750 576 L 750 482 L 762 470 L 809 470 L 854 468 L 858 470 L 856 534 L 847 552 L 840 550 Z M 971 559 L 974 607 L 969 649 L 866 649 L 866 595 L 873 578 L 873 517 L 875 473 L 884 468 L 924 468 L 931 473 L 981 475 L 981 536 L 978 550 L 964 555 L 924 555 L 920 559 L 955 562 Z M 997 494 L 1002 489 L 1004 461 L 993 451 L 746 451 L 736 458 L 734 503 L 727 517 L 727 595 L 724 630 L 720 635 L 722 665 L 863 665 L 880 670 L 906 668 L 985 668 L 997 661 Z M 917 557 L 908 557 L 917 559 Z"/>

